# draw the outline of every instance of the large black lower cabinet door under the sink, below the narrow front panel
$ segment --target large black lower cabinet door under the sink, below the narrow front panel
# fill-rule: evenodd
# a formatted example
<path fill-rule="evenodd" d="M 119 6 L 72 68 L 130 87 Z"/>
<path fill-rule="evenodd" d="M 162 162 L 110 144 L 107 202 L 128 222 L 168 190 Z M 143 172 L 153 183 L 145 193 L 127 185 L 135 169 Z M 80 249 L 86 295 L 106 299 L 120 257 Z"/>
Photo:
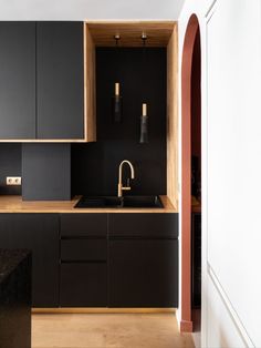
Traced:
<path fill-rule="evenodd" d="M 177 307 L 178 240 L 111 239 L 109 307 Z"/>

